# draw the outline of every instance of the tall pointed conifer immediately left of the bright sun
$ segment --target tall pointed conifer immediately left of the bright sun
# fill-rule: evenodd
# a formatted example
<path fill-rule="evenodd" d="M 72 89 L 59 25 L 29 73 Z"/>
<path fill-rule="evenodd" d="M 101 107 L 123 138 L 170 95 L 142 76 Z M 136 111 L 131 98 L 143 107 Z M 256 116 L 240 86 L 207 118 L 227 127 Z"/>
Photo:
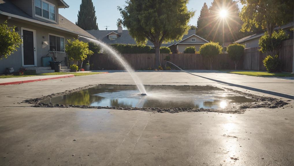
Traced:
<path fill-rule="evenodd" d="M 209 18 L 208 6 L 206 5 L 206 3 L 204 3 L 197 20 L 196 34 L 203 38 L 207 38 L 209 29 L 211 29 L 212 27 L 212 25 L 209 23 L 210 23 L 210 18 Z"/>

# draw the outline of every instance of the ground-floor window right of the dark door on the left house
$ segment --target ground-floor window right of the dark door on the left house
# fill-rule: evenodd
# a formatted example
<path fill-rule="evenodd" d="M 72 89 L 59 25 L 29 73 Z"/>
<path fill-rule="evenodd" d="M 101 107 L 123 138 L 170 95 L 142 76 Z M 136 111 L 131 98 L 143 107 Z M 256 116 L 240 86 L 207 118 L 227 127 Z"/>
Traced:
<path fill-rule="evenodd" d="M 64 37 L 57 35 L 49 35 L 49 51 L 64 53 Z"/>

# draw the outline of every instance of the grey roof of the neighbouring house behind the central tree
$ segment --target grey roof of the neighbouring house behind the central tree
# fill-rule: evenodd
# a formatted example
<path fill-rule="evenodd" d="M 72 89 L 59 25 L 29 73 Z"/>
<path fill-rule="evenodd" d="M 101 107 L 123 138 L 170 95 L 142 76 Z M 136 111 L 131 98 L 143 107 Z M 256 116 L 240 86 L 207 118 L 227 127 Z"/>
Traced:
<path fill-rule="evenodd" d="M 107 35 L 109 35 L 110 33 L 113 33 L 113 32 L 118 34 L 117 30 L 107 30 L 107 31 L 106 30 L 88 30 L 87 32 L 90 33 L 91 35 L 93 35 L 94 37 L 96 37 L 98 40 L 100 40 L 100 41 L 102 41 L 104 43 L 107 43 L 107 44 L 116 44 L 116 43 L 119 43 L 119 44 L 136 44 L 135 39 L 129 34 L 128 30 L 123 30 L 123 33 L 120 34 L 121 36 L 118 37 L 115 40 L 109 40 Z M 186 38 L 189 38 L 189 37 L 191 37 L 193 35 L 201 38 L 200 36 L 195 34 L 195 30 L 189 30 L 188 34 L 184 35 L 181 41 L 183 41 Z M 201 38 L 201 39 L 203 39 L 203 38 Z M 205 39 L 203 39 L 203 40 L 207 41 Z M 161 46 L 169 47 L 169 46 L 172 46 L 172 45 L 174 45 L 176 43 L 178 43 L 178 41 L 162 43 Z M 195 43 L 197 43 L 197 42 L 195 42 Z M 154 47 L 154 45 L 153 45 L 153 43 L 151 41 L 148 41 L 147 45 L 151 46 L 151 47 Z"/>

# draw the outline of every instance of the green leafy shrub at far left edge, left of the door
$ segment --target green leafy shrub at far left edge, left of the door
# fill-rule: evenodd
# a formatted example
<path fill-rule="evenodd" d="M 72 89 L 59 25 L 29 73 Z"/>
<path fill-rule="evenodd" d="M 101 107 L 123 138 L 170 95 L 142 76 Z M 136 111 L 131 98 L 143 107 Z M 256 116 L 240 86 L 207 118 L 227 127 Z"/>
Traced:
<path fill-rule="evenodd" d="M 22 43 L 20 35 L 14 30 L 15 28 L 15 26 L 7 26 L 7 21 L 0 24 L 0 60 L 13 54 Z"/>

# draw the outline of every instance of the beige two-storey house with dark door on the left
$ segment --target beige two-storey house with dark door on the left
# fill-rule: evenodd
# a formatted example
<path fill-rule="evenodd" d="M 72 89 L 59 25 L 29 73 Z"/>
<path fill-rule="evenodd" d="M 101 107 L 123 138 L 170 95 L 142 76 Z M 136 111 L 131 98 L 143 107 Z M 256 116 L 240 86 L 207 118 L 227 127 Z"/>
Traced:
<path fill-rule="evenodd" d="M 0 60 L 0 73 L 11 67 L 15 71 L 27 68 L 37 73 L 52 72 L 50 67 L 42 67 L 42 57 L 54 56 L 65 66 L 64 47 L 68 39 L 78 35 L 95 39 L 61 16 L 60 8 L 69 8 L 69 5 L 63 0 L 0 0 L 0 22 L 7 20 L 8 26 L 16 26 L 23 41 L 14 54 Z"/>

